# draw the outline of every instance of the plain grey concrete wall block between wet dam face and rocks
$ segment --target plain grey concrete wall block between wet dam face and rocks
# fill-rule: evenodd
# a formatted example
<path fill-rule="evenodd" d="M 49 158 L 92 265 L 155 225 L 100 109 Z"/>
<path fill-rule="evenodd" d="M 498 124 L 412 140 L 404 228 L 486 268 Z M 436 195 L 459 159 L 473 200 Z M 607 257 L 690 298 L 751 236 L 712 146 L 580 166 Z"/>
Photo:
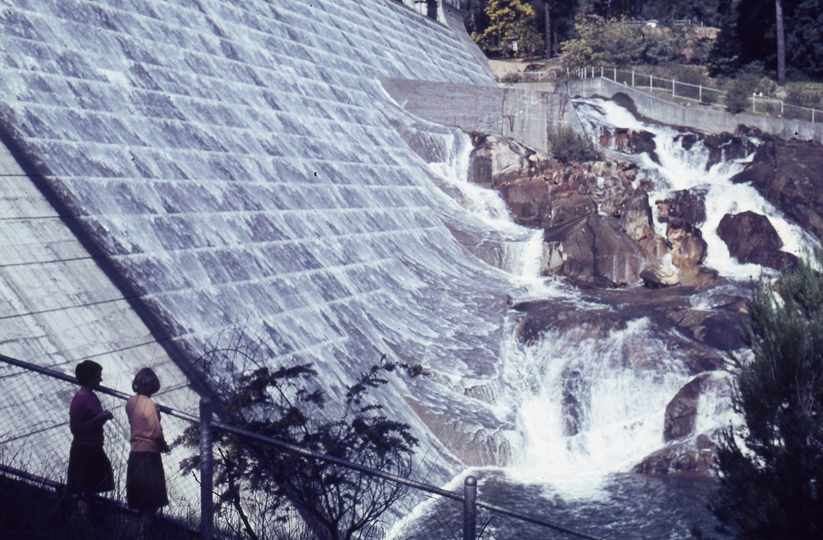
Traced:
<path fill-rule="evenodd" d="M 400 107 L 424 120 L 511 137 L 543 153 L 549 153 L 553 131 L 579 126 L 566 94 L 408 79 L 381 83 Z"/>

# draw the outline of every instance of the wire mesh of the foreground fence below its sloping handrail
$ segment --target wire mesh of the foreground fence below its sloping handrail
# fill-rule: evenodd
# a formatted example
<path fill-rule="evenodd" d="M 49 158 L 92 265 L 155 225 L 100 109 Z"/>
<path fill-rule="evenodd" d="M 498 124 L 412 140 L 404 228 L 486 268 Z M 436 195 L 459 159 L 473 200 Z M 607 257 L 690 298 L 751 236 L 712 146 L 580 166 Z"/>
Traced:
<path fill-rule="evenodd" d="M 18 471 L 17 476 L 25 481 L 56 488 L 62 493 L 72 441 L 69 405 L 78 390 L 77 381 L 59 371 L 0 355 L 0 384 L 3 388 L 0 410 L 5 415 L 5 421 L 0 423 L 0 473 Z M 115 488 L 101 496 L 114 506 L 125 508 L 130 450 L 125 401 L 129 396 L 105 387 L 98 388 L 96 394 L 103 409 L 113 414 L 105 426 L 104 450 L 112 464 Z M 215 476 L 225 474 L 225 468 L 223 473 L 215 475 L 210 467 L 198 471 L 180 466 L 195 457 L 202 463 L 210 461 L 215 454 L 220 455 L 223 449 L 211 442 L 212 435 L 219 431 L 244 438 L 243 444 L 271 444 L 285 452 L 334 463 L 397 484 L 401 488 L 397 501 L 406 508 L 420 508 L 421 497 L 430 497 L 435 505 L 434 511 L 419 513 L 420 519 L 405 523 L 399 530 L 393 519 L 377 520 L 359 531 L 361 539 L 514 539 L 522 538 L 530 529 L 542 530 L 536 533 L 541 538 L 597 538 L 540 517 L 476 501 L 476 487 L 470 487 L 470 481 L 476 486 L 473 477 L 467 479 L 462 493 L 449 491 L 214 422 L 208 399 L 201 400 L 199 417 L 164 407 L 162 401 L 158 401 L 158 405 L 163 413 L 162 425 L 167 440 L 186 440 L 187 430 L 189 435 L 192 428 L 200 430 L 199 447 L 173 444 L 170 453 L 163 457 L 169 495 L 169 505 L 164 513 L 187 530 L 200 529 L 204 538 L 316 538 L 315 531 L 303 519 L 305 514 L 289 504 L 283 505 L 282 500 L 275 500 L 276 495 L 242 482 L 233 489 L 227 489 L 225 482 L 219 489 L 213 489 Z M 208 435 L 204 437 L 205 433 Z M 208 442 L 204 444 L 204 440 Z M 202 478 L 198 478 L 198 472 L 202 472 Z M 237 487 L 244 488 L 242 496 Z M 273 513 L 272 508 L 277 511 Z M 204 523 L 208 526 L 204 527 Z"/>

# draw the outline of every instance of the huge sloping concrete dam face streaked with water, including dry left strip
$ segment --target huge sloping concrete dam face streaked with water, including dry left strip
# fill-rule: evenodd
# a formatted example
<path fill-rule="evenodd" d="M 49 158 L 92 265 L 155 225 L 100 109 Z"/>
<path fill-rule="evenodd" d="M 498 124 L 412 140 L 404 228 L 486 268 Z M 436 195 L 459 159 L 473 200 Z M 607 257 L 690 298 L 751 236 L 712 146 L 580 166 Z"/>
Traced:
<path fill-rule="evenodd" d="M 379 82 L 494 89 L 461 32 L 383 0 L 6 5 L 0 354 L 67 374 L 95 358 L 124 392 L 152 365 L 188 410 L 225 333 L 313 362 L 337 396 L 386 354 L 433 374 L 384 399 L 435 445 L 430 480 L 505 462 L 491 404 L 510 284 L 455 240 L 482 227 Z M 6 418 L 20 403 L 6 395 Z M 67 458 L 67 432 L 32 435 L 42 459 Z"/>

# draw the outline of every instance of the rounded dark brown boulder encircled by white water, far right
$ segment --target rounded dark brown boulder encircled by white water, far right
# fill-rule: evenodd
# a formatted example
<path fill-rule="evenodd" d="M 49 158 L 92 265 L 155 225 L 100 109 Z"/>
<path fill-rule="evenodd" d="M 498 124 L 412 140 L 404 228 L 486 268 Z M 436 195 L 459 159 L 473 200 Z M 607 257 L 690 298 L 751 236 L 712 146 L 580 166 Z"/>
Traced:
<path fill-rule="evenodd" d="M 797 257 L 780 250 L 783 242 L 766 216 L 754 212 L 726 214 L 717 226 L 717 234 L 729 247 L 729 253 L 742 263 L 777 270 L 797 265 Z"/>

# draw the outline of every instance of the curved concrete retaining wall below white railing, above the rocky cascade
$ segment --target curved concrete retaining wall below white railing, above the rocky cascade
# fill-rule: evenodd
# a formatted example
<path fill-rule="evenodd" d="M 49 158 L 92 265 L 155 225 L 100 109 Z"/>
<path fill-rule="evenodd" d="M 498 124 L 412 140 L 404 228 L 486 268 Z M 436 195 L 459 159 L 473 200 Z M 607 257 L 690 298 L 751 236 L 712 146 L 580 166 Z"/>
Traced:
<path fill-rule="evenodd" d="M 559 88 L 558 92 L 569 97 L 597 95 L 605 98 L 610 98 L 618 92 L 622 92 L 632 98 L 637 106 L 637 111 L 643 116 L 658 122 L 690 127 L 709 133 L 724 131 L 732 133 L 738 125 L 744 124 L 757 127 L 765 133 L 771 133 L 784 139 L 799 137 L 823 142 L 823 123 L 813 124 L 799 120 L 770 118 L 745 113 L 730 114 L 726 111 L 699 104 L 695 104 L 693 107 L 683 107 L 602 77 L 571 81 Z"/>

